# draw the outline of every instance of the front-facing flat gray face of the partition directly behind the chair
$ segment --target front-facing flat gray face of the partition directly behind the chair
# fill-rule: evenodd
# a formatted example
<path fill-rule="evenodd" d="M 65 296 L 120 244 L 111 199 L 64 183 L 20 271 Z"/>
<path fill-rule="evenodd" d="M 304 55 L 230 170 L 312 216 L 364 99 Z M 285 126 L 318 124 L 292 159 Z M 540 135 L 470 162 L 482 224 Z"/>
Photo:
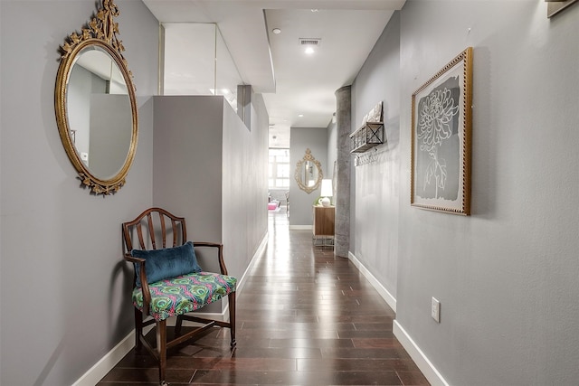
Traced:
<path fill-rule="evenodd" d="M 221 242 L 223 97 L 154 104 L 153 203 L 185 217 L 189 240 Z"/>

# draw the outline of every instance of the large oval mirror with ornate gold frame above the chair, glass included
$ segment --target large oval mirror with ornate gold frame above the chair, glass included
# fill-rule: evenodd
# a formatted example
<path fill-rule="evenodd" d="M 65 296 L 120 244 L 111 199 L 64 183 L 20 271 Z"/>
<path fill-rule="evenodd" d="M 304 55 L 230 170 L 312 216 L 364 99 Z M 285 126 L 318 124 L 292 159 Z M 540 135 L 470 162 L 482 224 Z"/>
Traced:
<path fill-rule="evenodd" d="M 102 8 L 81 34 L 61 46 L 54 90 L 62 145 L 91 193 L 116 193 L 125 184 L 137 150 L 138 115 L 132 73 L 117 37 L 119 8 Z"/>

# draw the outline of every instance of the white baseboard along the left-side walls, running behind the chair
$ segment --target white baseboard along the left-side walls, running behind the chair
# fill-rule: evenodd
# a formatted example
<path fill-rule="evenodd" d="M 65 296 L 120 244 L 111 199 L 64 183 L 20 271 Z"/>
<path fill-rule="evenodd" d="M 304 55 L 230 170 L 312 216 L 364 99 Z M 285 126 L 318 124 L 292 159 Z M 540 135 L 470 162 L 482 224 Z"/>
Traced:
<path fill-rule="evenodd" d="M 242 290 L 243 284 L 245 283 L 245 278 L 247 278 L 247 274 L 250 269 L 254 265 L 254 261 L 261 257 L 261 254 L 265 250 L 265 247 L 268 243 L 268 234 L 265 234 L 263 240 L 261 240 L 261 244 L 258 247 L 257 251 L 252 257 L 252 261 L 245 269 L 245 272 L 242 275 L 242 278 L 238 282 L 238 286 L 235 290 L 235 293 L 239 295 Z M 225 306 L 222 313 L 204 313 L 207 317 L 214 317 L 218 320 L 225 320 L 229 316 L 229 305 Z M 167 321 L 167 325 L 175 325 L 175 318 L 171 318 L 171 320 Z M 189 325 L 191 322 L 184 321 L 183 325 Z M 148 331 L 153 329 L 153 325 L 149 325 L 143 329 L 143 332 L 147 334 Z M 131 331 L 130 334 L 125 336 L 123 340 L 119 342 L 109 353 L 106 353 L 99 362 L 96 362 L 94 366 L 92 366 L 88 372 L 85 372 L 81 378 L 77 381 L 72 383 L 72 386 L 94 386 L 99 381 L 107 375 L 116 365 L 120 362 L 121 359 L 131 351 L 131 349 L 135 347 L 135 330 Z"/>

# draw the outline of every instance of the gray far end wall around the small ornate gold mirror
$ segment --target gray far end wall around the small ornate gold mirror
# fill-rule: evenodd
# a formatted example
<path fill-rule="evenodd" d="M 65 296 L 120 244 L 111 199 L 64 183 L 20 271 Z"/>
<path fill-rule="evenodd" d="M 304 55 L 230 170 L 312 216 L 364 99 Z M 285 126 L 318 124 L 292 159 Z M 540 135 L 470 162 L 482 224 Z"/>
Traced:
<path fill-rule="evenodd" d="M 323 178 L 332 178 L 334 165 L 327 165 L 327 128 L 326 127 L 291 127 L 289 138 L 289 226 L 309 226 L 313 224 L 312 205 L 319 197 L 318 189 L 306 193 L 299 189 L 294 177 L 296 164 L 306 155 L 306 149 L 322 166 Z"/>

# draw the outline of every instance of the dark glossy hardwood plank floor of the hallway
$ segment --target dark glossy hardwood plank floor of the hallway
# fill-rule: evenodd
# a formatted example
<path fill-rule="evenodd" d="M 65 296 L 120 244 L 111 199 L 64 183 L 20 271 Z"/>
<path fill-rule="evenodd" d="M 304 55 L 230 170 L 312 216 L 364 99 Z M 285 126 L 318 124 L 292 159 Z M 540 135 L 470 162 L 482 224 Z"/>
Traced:
<path fill-rule="evenodd" d="M 314 247 L 311 231 L 289 231 L 284 207 L 269 216 L 267 252 L 237 297 L 236 349 L 227 330 L 214 328 L 169 353 L 167 381 L 428 385 L 392 333 L 394 312 L 356 267 Z M 157 366 L 134 350 L 98 383 L 147 384 L 158 384 Z"/>

